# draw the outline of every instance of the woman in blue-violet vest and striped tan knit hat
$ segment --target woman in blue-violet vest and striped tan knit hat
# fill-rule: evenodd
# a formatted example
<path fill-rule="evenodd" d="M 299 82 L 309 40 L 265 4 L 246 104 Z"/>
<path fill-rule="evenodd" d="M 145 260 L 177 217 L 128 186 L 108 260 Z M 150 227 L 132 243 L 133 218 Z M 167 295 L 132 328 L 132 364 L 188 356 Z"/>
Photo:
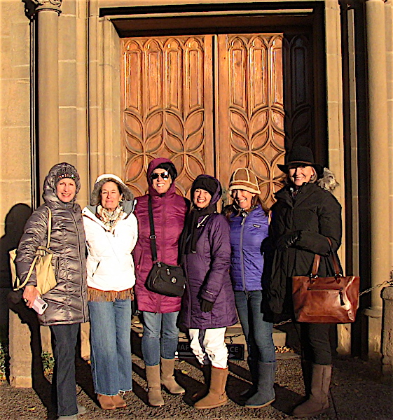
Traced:
<path fill-rule="evenodd" d="M 248 364 L 253 385 L 244 394 L 245 406 L 265 407 L 275 400 L 275 346 L 273 323 L 261 309 L 263 290 L 263 244 L 268 237 L 268 209 L 253 172 L 236 169 L 229 192 L 233 204 L 224 209 L 230 222 L 230 277 L 235 290 L 237 314 L 246 337 Z"/>

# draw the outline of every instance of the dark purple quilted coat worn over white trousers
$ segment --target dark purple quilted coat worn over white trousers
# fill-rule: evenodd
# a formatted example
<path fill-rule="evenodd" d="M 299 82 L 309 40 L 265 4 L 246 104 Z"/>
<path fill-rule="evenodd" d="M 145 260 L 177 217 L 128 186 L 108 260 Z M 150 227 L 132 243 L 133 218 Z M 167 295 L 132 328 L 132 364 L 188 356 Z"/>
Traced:
<path fill-rule="evenodd" d="M 218 183 L 219 181 L 217 181 Z M 219 201 L 218 190 L 212 204 Z M 203 217 L 198 221 L 202 221 Z M 200 227 L 196 252 L 184 255 L 186 292 L 181 325 L 186 328 L 222 328 L 237 323 L 235 297 L 229 276 L 230 230 L 222 214 L 210 214 Z M 211 312 L 202 312 L 199 297 L 214 302 Z"/>

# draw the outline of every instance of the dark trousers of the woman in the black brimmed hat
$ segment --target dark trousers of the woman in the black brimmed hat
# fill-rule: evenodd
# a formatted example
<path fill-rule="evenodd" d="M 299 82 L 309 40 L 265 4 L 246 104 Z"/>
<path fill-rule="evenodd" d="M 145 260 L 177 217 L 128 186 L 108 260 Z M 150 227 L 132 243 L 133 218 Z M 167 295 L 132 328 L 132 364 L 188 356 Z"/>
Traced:
<path fill-rule="evenodd" d="M 317 365 L 331 365 L 331 324 L 299 323 L 295 328 L 302 346 L 302 359 Z"/>

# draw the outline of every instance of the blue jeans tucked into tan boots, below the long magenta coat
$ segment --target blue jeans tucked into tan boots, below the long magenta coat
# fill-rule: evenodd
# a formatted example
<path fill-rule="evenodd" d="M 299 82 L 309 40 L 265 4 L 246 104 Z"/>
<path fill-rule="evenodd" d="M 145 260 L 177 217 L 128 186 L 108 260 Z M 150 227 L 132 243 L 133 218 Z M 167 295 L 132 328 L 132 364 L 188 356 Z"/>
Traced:
<path fill-rule="evenodd" d="M 144 363 L 155 366 L 162 358 L 172 359 L 177 350 L 179 328 L 177 328 L 177 316 L 179 312 L 168 314 L 154 314 L 142 311 L 144 335 L 142 337 L 142 354 Z"/>

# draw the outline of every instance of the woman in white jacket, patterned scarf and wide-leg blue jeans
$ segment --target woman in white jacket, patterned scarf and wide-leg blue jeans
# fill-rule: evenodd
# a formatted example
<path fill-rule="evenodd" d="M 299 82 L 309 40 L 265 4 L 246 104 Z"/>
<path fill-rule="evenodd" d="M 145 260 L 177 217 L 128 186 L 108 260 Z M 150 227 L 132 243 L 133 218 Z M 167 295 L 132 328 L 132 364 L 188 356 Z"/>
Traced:
<path fill-rule="evenodd" d="M 88 247 L 88 305 L 92 377 L 102 409 L 125 407 L 120 393 L 132 389 L 132 250 L 138 227 L 134 197 L 116 175 L 97 178 L 91 205 L 83 209 Z"/>

